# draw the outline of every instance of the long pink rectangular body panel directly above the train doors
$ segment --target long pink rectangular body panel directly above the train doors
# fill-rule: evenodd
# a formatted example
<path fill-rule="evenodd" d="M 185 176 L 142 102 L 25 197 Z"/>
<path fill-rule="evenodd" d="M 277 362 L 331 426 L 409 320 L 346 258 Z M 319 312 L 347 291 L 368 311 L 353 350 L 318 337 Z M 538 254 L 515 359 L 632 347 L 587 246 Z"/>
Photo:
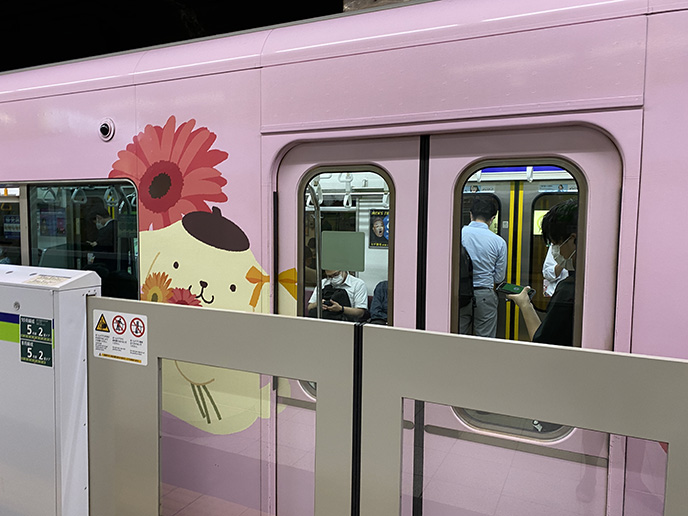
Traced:
<path fill-rule="evenodd" d="M 639 106 L 645 24 L 609 20 L 268 67 L 263 130 Z"/>

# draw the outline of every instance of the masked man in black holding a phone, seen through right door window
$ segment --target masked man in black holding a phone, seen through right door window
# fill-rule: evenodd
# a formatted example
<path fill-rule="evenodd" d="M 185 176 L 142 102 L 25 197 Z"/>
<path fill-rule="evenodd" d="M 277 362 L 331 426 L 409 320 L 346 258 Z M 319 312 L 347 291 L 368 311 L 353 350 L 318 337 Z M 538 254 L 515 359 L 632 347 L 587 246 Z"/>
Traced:
<path fill-rule="evenodd" d="M 520 294 L 507 296 L 520 308 L 528 335 L 533 342 L 573 346 L 577 231 L 577 200 L 570 199 L 557 204 L 542 219 L 542 236 L 550 245 L 552 257 L 559 266 L 568 271 L 568 277 L 557 285 L 542 321 L 528 297 L 530 287 L 523 289 Z"/>

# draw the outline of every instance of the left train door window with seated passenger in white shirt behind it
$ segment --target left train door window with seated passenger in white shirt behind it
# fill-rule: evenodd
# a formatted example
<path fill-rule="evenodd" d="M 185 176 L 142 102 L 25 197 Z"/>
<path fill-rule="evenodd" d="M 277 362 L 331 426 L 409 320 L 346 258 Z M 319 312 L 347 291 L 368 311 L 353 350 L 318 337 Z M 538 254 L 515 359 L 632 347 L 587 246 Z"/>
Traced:
<path fill-rule="evenodd" d="M 301 314 L 391 324 L 390 184 L 384 171 L 374 167 L 322 167 L 306 177 L 299 245 Z"/>

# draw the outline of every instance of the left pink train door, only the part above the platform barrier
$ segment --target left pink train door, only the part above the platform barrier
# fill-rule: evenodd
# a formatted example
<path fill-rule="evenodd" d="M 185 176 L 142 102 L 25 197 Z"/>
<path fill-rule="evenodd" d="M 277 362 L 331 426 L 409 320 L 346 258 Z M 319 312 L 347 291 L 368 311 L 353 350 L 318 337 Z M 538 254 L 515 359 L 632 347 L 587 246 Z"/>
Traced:
<path fill-rule="evenodd" d="M 293 271 L 296 288 L 280 288 L 279 313 L 307 316 L 310 305 L 316 316 L 318 281 L 344 270 L 365 283 L 369 309 L 386 281 L 388 323 L 416 327 L 419 149 L 412 137 L 304 144 L 285 156 L 278 272 Z"/>

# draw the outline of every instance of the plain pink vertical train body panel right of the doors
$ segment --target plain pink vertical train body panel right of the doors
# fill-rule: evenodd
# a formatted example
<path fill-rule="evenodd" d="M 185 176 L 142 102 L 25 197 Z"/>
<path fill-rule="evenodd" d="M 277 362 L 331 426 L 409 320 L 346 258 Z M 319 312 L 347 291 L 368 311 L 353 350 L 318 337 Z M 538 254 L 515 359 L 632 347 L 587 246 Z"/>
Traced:
<path fill-rule="evenodd" d="M 688 245 L 680 226 L 667 219 L 681 218 L 688 159 L 681 123 L 688 113 L 687 14 L 650 18 L 633 316 L 634 352 L 680 358 L 687 352 L 674 264 L 688 259 Z"/>

